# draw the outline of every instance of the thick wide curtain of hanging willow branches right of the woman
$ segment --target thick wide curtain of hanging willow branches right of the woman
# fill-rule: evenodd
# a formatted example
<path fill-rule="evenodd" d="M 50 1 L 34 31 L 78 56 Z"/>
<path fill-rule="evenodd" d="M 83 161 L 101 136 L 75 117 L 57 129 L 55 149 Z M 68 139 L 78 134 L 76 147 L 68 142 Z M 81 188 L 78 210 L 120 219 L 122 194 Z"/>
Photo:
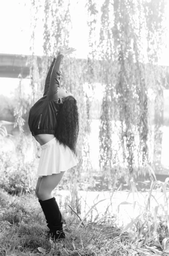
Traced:
<path fill-rule="evenodd" d="M 146 0 L 119 0 L 114 1 L 112 5 L 109 0 L 105 0 L 101 9 L 98 47 L 102 60 L 106 60 L 109 65 L 106 67 L 103 62 L 102 66 L 106 90 L 100 117 L 100 167 L 108 177 L 110 172 L 117 174 L 122 166 L 121 175 L 128 173 L 129 178 L 137 170 L 141 170 L 150 159 L 148 88 L 154 87 L 155 84 L 153 81 L 147 83 L 147 66 L 144 63 L 147 61 L 147 56 L 149 60 L 151 59 L 151 63 L 157 61 L 162 44 L 160 38 L 165 31 L 163 23 L 165 2 L 165 0 L 156 1 L 153 6 L 154 1 L 148 3 Z M 147 39 L 148 45 L 152 45 L 147 47 L 147 53 L 143 38 Z M 114 67 L 113 71 L 110 70 L 110 66 Z M 115 145 L 110 135 L 115 133 L 113 120 L 120 121 L 117 154 L 112 151 L 112 146 Z M 120 166 L 115 171 L 117 155 Z"/>

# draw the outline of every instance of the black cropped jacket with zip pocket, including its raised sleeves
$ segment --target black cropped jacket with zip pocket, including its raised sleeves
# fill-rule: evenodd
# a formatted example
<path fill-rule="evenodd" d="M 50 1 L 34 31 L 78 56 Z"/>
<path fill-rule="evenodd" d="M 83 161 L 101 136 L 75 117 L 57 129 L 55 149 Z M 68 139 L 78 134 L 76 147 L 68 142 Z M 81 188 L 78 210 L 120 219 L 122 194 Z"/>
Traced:
<path fill-rule="evenodd" d="M 58 88 L 60 87 L 60 66 L 63 55 L 54 58 L 45 81 L 43 97 L 29 111 L 29 129 L 32 136 L 37 134 L 55 134 L 57 128 L 56 116 L 60 108 Z"/>

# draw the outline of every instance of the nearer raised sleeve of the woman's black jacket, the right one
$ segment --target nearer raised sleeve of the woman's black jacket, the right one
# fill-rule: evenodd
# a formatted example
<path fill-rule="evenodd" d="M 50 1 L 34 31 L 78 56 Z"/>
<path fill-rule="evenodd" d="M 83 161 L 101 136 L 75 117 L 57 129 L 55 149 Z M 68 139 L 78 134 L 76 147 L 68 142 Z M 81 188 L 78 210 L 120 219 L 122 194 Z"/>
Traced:
<path fill-rule="evenodd" d="M 49 92 L 48 92 L 48 100 L 54 99 L 58 100 L 58 88 L 59 88 L 59 82 L 60 82 L 60 67 L 62 66 L 64 55 L 60 54 L 57 56 L 54 66 L 52 69 L 50 84 L 49 84 Z"/>

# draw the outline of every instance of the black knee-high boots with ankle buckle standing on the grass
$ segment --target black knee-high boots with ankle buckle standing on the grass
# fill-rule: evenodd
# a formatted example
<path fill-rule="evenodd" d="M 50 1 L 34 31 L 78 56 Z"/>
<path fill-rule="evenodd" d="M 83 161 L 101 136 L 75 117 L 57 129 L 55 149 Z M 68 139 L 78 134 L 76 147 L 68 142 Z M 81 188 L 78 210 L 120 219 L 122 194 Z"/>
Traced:
<path fill-rule="evenodd" d="M 62 215 L 56 199 L 53 197 L 45 201 L 39 200 L 39 202 L 46 218 L 47 227 L 49 227 L 48 237 L 51 236 L 54 239 L 65 239 L 63 222 L 61 221 Z"/>

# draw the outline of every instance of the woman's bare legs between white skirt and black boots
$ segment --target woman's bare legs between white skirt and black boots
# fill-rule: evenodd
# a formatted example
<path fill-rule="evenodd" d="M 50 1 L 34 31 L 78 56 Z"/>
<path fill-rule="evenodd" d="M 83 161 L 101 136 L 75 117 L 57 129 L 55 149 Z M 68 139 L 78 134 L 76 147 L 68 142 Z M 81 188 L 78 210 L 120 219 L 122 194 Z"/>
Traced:
<path fill-rule="evenodd" d="M 54 190 L 60 183 L 64 174 L 65 172 L 60 172 L 57 174 L 43 176 L 38 190 L 38 195 L 42 201 L 53 198 L 52 190 Z"/>

